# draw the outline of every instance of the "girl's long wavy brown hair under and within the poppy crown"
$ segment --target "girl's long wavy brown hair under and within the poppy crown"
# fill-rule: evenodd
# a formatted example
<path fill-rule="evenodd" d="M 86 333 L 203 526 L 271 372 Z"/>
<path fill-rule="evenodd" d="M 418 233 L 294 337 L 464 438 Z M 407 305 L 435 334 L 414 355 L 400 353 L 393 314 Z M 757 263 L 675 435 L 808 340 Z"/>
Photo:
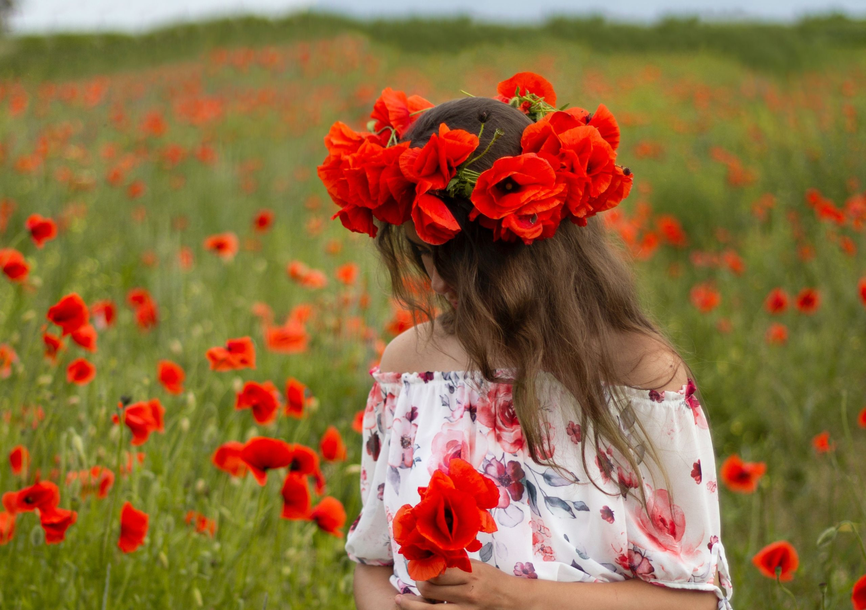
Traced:
<path fill-rule="evenodd" d="M 485 149 L 496 128 L 505 135 L 473 165 L 483 171 L 499 157 L 520 154 L 520 136 L 530 122 L 498 100 L 451 100 L 423 112 L 404 139 L 413 147 L 422 146 L 440 123 L 470 133 L 478 133 L 481 123 L 487 123 L 478 151 Z M 616 393 L 617 384 L 625 385 L 620 383 L 612 346 L 617 333 L 635 333 L 676 351 L 643 312 L 630 267 L 611 246 L 598 217 L 585 227 L 563 220 L 553 237 L 527 246 L 522 241 L 493 241 L 490 229 L 468 220 L 471 202 L 445 198 L 445 204 L 462 230 L 430 250 L 436 272 L 455 290 L 459 306 L 454 309 L 432 291 L 417 290 L 418 279 L 426 278 L 423 263 L 413 254 L 403 229 L 385 223 L 379 224 L 376 245 L 391 276 L 394 298 L 413 312 L 415 321 L 430 319 L 433 326 L 442 324 L 447 334 L 456 336 L 473 369 L 488 382 L 512 384 L 514 410 L 530 457 L 562 472 L 544 451 L 548 427 L 537 395 L 538 374 L 553 375 L 575 399 L 577 412 L 567 416 L 578 420 L 582 430 L 592 431 L 595 451 L 603 439 L 614 449 L 615 460 L 636 473 L 645 507 L 638 464 L 645 455 L 656 465 L 661 462 L 641 422 L 636 421 L 637 435 L 624 433 L 608 405 L 607 393 Z M 443 313 L 436 317 L 438 305 L 443 305 Z M 514 378 L 496 376 L 497 364 L 503 362 L 514 369 Z M 675 374 L 676 370 L 671 379 Z M 623 404 L 624 396 L 618 398 Z M 586 436 L 581 453 L 589 472 Z M 660 470 L 670 489 L 667 472 Z M 628 485 L 620 487 L 620 493 L 629 492 Z"/>

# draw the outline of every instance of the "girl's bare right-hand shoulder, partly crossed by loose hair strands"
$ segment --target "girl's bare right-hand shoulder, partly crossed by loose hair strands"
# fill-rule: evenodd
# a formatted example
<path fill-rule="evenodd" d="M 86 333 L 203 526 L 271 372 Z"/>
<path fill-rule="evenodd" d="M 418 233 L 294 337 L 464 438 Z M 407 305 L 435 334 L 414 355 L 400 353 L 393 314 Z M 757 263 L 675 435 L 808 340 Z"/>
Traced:
<path fill-rule="evenodd" d="M 682 357 L 653 337 L 623 337 L 617 346 L 623 382 L 656 391 L 678 391 L 688 382 Z"/>

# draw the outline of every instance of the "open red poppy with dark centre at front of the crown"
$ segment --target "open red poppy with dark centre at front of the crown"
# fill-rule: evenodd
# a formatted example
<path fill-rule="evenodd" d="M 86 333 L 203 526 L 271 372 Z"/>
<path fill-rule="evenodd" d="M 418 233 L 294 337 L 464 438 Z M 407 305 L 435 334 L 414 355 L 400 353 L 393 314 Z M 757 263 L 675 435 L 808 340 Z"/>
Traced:
<path fill-rule="evenodd" d="M 557 183 L 553 167 L 535 153 L 500 157 L 475 183 L 471 196 L 474 208 L 469 212 L 469 220 L 481 214 L 486 219 L 501 221 L 500 230 L 494 230 L 494 240 L 498 233 L 501 239 L 514 241 L 520 237 L 529 244 L 555 232 L 564 190 L 565 184 Z M 489 228 L 496 226 L 485 222 L 483 217 L 480 222 Z"/>

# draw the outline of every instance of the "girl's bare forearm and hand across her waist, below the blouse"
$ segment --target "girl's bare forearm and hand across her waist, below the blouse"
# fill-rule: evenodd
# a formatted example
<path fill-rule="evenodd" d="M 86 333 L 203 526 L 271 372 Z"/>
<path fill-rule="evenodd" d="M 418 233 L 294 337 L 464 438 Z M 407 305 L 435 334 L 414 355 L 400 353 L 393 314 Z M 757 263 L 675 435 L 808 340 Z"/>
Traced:
<path fill-rule="evenodd" d="M 712 591 L 658 587 L 637 578 L 619 582 L 520 578 L 475 560 L 472 572 L 449 568 L 417 587 L 426 598 L 456 604 L 455 610 L 715 610 L 718 602 Z M 397 598 L 401 610 L 427 606 L 413 596 Z"/>

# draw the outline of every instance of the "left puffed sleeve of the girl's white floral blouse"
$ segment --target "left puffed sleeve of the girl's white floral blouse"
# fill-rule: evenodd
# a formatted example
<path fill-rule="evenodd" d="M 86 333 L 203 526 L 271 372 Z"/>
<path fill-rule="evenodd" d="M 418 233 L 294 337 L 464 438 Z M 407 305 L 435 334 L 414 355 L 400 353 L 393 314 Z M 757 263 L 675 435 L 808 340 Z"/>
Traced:
<path fill-rule="evenodd" d="M 387 406 L 393 403 L 399 388 L 398 384 L 377 380 L 367 395 L 361 452 L 361 511 L 346 536 L 346 553 L 354 562 L 375 566 L 394 564 L 382 492 L 385 489 L 387 447 L 391 437 L 391 418 Z"/>

